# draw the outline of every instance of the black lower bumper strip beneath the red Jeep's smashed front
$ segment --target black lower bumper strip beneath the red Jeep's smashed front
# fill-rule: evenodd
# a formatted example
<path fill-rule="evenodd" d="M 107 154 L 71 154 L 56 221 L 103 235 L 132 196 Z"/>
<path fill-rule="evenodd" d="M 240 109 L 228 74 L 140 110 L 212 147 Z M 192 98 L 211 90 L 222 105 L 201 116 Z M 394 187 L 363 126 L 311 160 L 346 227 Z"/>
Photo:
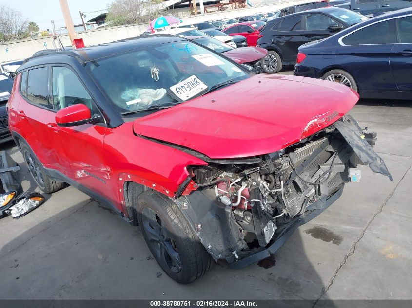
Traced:
<path fill-rule="evenodd" d="M 288 240 L 288 238 L 294 233 L 297 227 L 311 221 L 314 217 L 318 216 L 324 210 L 326 210 L 332 203 L 334 203 L 343 192 L 342 186 L 337 192 L 335 192 L 329 198 L 322 198 L 311 204 L 312 211 L 307 211 L 303 216 L 295 217 L 288 225 L 279 233 L 275 234 L 275 240 L 265 250 L 259 251 L 255 254 L 249 255 L 241 260 L 230 264 L 231 268 L 240 269 L 260 260 L 270 257 L 272 254 L 282 247 L 282 245 Z M 308 213 L 309 212 L 309 213 Z"/>

